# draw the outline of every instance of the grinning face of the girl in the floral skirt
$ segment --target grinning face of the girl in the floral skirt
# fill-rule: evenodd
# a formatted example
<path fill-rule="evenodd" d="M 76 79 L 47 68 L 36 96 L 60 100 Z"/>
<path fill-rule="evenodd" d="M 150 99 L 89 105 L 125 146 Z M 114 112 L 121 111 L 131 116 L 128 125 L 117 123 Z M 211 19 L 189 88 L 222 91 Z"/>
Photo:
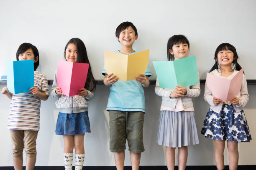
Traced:
<path fill-rule="evenodd" d="M 221 66 L 231 66 L 234 60 L 234 53 L 231 50 L 221 50 L 217 55 L 218 63 Z"/>

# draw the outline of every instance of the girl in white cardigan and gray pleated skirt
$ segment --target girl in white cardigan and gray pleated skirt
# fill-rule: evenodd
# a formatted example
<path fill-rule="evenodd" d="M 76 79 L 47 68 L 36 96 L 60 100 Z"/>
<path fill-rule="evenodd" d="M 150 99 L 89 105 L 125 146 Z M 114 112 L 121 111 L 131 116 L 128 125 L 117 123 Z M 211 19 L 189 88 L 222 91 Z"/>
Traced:
<path fill-rule="evenodd" d="M 168 60 L 187 57 L 188 51 L 189 41 L 184 35 L 174 35 L 169 38 Z M 168 170 L 174 170 L 176 148 L 179 149 L 179 170 L 184 170 L 187 164 L 187 146 L 199 143 L 192 97 L 200 95 L 200 83 L 189 87 L 177 85 L 175 89 L 165 89 L 159 87 L 156 79 L 155 92 L 162 97 L 157 143 L 166 146 Z"/>

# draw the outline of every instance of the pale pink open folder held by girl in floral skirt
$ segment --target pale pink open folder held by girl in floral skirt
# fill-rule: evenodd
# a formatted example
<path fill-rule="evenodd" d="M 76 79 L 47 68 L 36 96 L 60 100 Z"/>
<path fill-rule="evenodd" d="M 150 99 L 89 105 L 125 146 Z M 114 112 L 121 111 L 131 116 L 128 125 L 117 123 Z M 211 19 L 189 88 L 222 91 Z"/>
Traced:
<path fill-rule="evenodd" d="M 214 97 L 220 98 L 223 102 L 235 97 L 241 90 L 243 80 L 243 68 L 231 79 L 218 77 L 207 73 L 206 84 Z"/>

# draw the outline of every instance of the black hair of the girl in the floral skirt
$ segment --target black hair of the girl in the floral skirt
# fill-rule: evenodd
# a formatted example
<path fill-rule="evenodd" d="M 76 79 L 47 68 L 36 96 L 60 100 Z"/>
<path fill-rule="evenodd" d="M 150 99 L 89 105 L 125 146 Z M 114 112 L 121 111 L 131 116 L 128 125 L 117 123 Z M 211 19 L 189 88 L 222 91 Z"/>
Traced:
<path fill-rule="evenodd" d="M 233 62 L 232 62 L 232 69 L 233 70 L 238 70 L 238 71 L 241 70 L 242 67 L 237 62 L 238 55 L 237 55 L 237 52 L 236 52 L 236 48 L 233 45 L 229 44 L 229 43 L 222 43 L 215 50 L 215 55 L 214 55 L 215 63 L 212 66 L 212 68 L 211 68 L 211 70 L 209 72 L 211 72 L 211 71 L 213 71 L 215 69 L 219 69 L 220 68 L 220 65 L 218 63 L 218 52 L 223 51 L 223 50 L 230 50 L 230 51 L 233 52 L 234 59 L 233 59 Z"/>

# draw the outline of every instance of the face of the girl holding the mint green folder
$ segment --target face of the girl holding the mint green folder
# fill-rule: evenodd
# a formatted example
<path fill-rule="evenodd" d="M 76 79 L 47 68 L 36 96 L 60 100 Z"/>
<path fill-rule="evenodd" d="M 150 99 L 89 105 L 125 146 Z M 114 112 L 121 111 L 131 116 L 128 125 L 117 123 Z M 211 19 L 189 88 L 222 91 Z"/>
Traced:
<path fill-rule="evenodd" d="M 174 60 L 178 60 L 187 56 L 189 47 L 187 43 L 177 43 L 169 49 L 169 52 L 174 55 Z"/>

